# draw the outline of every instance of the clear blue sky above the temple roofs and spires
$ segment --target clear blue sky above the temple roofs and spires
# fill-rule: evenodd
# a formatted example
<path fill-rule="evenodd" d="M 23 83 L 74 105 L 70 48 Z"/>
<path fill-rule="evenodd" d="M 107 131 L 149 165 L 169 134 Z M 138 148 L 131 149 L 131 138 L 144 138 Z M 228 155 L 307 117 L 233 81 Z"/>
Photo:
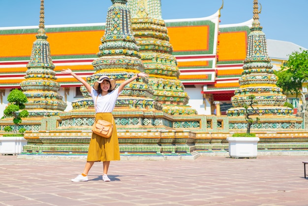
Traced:
<path fill-rule="evenodd" d="M 214 14 L 222 0 L 161 0 L 162 18 L 199 18 Z M 308 0 L 259 0 L 260 22 L 268 39 L 290 41 L 308 49 Z M 111 0 L 45 0 L 45 25 L 101 23 Z M 224 0 L 220 24 L 252 18 L 253 0 Z M 0 27 L 36 26 L 40 0 L 0 0 Z M 260 8 L 260 7 L 259 7 Z"/>

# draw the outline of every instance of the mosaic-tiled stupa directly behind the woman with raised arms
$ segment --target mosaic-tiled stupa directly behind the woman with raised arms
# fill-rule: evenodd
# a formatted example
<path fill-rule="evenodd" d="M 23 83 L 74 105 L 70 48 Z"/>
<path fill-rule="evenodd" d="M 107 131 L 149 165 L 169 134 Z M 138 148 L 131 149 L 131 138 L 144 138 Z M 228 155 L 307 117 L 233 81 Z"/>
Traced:
<path fill-rule="evenodd" d="M 101 38 L 98 58 L 92 62 L 95 72 L 87 77 L 89 84 L 93 85 L 101 75 L 108 75 L 116 79 L 116 84 L 144 71 L 140 59 L 139 49 L 136 45 L 130 25 L 129 10 L 126 0 L 112 0 L 113 5 L 108 9 L 105 33 Z M 145 91 L 150 90 L 148 85 L 134 81 L 127 85 L 116 103 L 117 108 L 127 109 L 153 109 L 154 100 L 145 97 Z M 73 102 L 74 109 L 89 108 L 93 105 L 86 88 L 81 87 L 86 99 Z"/>

